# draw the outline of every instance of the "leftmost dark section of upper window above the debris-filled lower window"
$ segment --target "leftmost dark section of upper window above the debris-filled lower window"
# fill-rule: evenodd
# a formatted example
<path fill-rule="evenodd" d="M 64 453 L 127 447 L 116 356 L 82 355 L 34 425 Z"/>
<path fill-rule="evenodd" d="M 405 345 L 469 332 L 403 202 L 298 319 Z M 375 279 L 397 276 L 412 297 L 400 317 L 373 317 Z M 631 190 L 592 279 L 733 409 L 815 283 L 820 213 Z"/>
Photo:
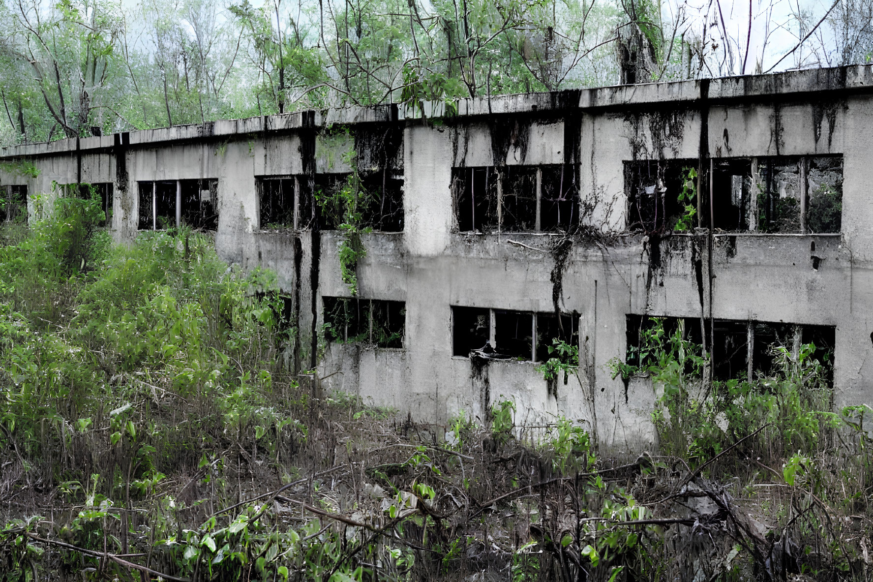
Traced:
<path fill-rule="evenodd" d="M 451 191 L 460 232 L 497 229 L 497 173 L 493 168 L 452 168 Z"/>

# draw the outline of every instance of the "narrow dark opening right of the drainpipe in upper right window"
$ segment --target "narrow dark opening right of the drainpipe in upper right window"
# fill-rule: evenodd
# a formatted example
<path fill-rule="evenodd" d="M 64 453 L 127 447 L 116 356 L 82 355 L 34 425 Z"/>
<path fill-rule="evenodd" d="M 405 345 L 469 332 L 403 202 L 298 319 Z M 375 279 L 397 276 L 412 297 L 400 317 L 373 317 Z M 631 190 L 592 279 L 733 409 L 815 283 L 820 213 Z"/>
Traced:
<path fill-rule="evenodd" d="M 750 197 L 752 195 L 752 162 L 750 160 L 713 161 L 712 226 L 714 228 L 729 232 L 749 230 Z M 709 204 L 704 205 L 707 208 L 709 206 Z M 705 220 L 705 222 L 709 221 Z"/>

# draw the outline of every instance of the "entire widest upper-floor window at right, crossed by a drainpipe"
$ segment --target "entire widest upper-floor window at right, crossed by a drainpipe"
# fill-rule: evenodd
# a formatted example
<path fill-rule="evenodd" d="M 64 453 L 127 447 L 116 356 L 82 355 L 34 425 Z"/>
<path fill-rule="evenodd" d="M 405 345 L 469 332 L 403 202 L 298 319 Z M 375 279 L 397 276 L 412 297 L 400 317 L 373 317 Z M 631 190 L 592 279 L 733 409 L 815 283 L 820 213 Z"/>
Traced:
<path fill-rule="evenodd" d="M 842 156 L 712 159 L 698 200 L 696 159 L 624 163 L 629 230 L 838 233 Z M 708 178 L 707 178 L 708 175 Z"/>

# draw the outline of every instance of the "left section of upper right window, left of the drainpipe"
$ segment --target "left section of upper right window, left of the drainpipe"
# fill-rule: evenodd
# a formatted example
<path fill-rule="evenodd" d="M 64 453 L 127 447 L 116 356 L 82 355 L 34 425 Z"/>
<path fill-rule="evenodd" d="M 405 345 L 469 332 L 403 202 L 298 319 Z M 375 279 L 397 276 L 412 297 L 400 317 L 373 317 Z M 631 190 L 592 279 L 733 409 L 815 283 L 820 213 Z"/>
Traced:
<path fill-rule="evenodd" d="M 624 163 L 628 197 L 628 228 L 643 232 L 671 232 L 686 214 L 680 197 L 697 160 L 651 160 Z M 693 190 L 687 204 L 697 204 Z M 691 224 L 683 230 L 691 230 Z"/>

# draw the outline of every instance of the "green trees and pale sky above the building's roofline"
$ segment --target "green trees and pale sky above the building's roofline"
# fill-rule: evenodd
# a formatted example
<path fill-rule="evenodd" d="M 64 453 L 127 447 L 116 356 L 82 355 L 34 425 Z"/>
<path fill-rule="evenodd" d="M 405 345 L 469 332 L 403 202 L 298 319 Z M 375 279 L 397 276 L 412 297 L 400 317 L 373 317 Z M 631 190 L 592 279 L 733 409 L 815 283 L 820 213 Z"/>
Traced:
<path fill-rule="evenodd" d="M 0 142 L 867 62 L 871 16 L 873 0 L 0 0 Z"/>

